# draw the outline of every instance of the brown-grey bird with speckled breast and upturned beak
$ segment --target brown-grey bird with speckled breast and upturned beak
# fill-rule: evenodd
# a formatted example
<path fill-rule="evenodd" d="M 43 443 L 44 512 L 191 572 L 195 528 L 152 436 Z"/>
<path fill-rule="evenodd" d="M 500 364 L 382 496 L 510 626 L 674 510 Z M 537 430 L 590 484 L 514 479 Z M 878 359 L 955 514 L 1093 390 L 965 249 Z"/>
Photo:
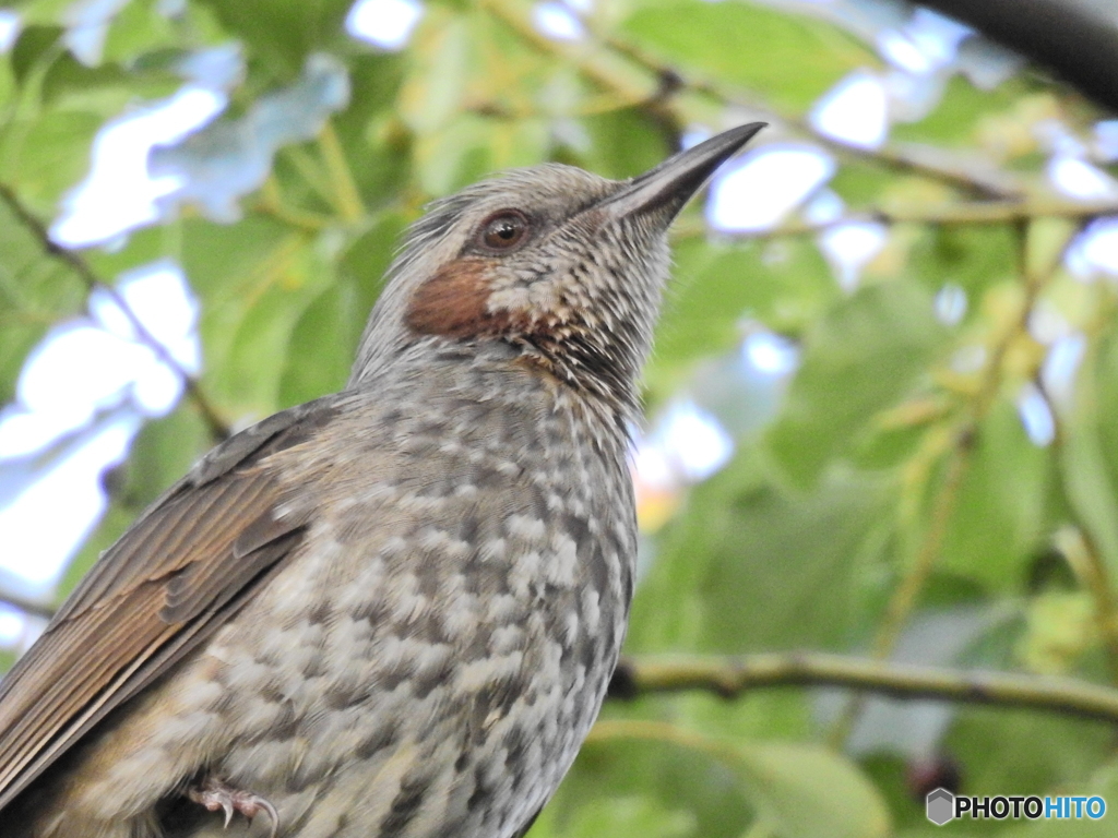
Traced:
<path fill-rule="evenodd" d="M 625 636 L 669 227 L 761 127 L 433 202 L 345 388 L 202 457 L 0 680 L 0 835 L 523 836 Z"/>

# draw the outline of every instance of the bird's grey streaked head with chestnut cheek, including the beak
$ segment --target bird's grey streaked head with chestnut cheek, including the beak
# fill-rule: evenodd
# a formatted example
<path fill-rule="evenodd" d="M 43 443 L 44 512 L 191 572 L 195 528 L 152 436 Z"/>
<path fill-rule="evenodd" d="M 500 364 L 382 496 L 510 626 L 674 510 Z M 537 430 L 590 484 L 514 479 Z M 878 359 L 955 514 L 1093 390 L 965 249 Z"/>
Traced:
<path fill-rule="evenodd" d="M 632 404 L 667 278 L 667 228 L 761 127 L 627 181 L 544 164 L 436 201 L 389 269 L 351 385 L 401 350 L 456 342 L 511 347 L 514 361 Z"/>

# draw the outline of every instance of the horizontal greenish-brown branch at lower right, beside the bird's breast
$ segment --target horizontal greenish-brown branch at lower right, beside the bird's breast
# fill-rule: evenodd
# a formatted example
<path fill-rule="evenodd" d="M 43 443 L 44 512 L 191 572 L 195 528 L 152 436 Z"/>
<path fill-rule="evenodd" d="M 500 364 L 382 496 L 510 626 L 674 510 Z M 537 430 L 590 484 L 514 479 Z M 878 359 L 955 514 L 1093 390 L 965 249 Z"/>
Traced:
<path fill-rule="evenodd" d="M 957 672 L 825 653 L 623 658 L 607 695 L 627 701 L 657 693 L 705 691 L 729 699 L 752 689 L 789 686 L 847 687 L 894 698 L 1029 707 L 1118 724 L 1118 689 L 1071 678 Z"/>

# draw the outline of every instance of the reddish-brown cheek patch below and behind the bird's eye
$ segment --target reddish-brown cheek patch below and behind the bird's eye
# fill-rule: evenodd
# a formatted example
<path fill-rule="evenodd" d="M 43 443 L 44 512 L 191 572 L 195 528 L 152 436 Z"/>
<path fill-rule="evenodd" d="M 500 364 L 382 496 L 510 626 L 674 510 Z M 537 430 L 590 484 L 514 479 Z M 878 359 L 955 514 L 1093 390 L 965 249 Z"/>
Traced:
<path fill-rule="evenodd" d="M 509 334 L 517 324 L 506 313 L 486 307 L 490 295 L 486 259 L 455 259 L 419 286 L 405 314 L 419 334 L 445 337 L 484 337 Z"/>

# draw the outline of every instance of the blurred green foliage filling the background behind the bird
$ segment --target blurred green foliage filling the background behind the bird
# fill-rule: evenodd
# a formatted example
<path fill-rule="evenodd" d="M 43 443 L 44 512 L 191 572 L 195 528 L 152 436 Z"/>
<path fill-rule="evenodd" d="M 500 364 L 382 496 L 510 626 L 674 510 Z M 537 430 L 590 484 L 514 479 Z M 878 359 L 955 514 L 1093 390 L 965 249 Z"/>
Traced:
<path fill-rule="evenodd" d="M 629 177 L 685 131 L 765 118 L 751 154 L 832 156 L 836 174 L 816 191 L 884 222 L 885 242 L 850 291 L 821 250 L 835 222 L 806 201 L 757 235 L 710 231 L 698 201 L 684 213 L 648 411 L 694 399 L 736 451 L 709 479 L 670 488 L 671 514 L 652 514 L 645 487 L 628 651 L 896 654 L 1118 678 L 1118 294 L 1063 259 L 1107 208 L 1061 197 L 1046 175 L 1068 143 L 1100 174 L 1107 164 L 1103 115 L 1074 92 L 1029 69 L 979 87 L 947 64 L 922 77 L 925 112 L 866 149 L 809 117 L 850 73 L 904 80 L 875 37 L 911 7 L 597 0 L 584 37 L 563 40 L 521 0 L 428 2 L 406 48 L 386 51 L 347 35 L 351 0 L 78 6 L 106 15 L 92 55 L 68 40 L 70 3 L 28 0 L 0 56 L 0 184 L 34 216 L 59 215 L 106 121 L 188 82 L 228 107 L 153 155 L 192 200 L 171 198 L 160 223 L 80 251 L 110 284 L 160 258 L 180 264 L 200 301 L 205 371 L 197 394 L 136 438 L 59 597 L 211 444 L 200 400 L 243 425 L 343 385 L 394 242 L 426 201 L 544 160 Z M 198 69 L 230 54 L 224 78 Z M 48 330 L 82 314 L 87 279 L 0 202 L 0 400 Z M 955 316 L 945 295 L 961 295 Z M 798 347 L 783 398 L 779 382 L 741 373 L 741 343 L 759 330 Z M 1045 378 L 1072 339 L 1081 362 Z M 1029 394 L 1050 439 L 1025 431 Z M 608 703 L 531 836 L 931 835 L 917 779 L 929 762 L 950 765 L 966 793 L 1109 791 L 1118 804 L 1101 723 L 927 704 L 874 713 L 811 689 Z"/>

